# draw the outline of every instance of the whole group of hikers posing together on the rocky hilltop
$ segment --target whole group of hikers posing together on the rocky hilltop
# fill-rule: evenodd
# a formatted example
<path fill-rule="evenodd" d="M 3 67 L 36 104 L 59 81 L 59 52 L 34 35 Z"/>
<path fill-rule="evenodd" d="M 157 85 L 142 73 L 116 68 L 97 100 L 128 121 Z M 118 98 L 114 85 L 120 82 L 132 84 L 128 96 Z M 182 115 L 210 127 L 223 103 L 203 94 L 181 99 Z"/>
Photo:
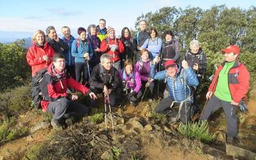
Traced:
<path fill-rule="evenodd" d="M 35 105 L 52 114 L 51 125 L 61 127 L 61 119 L 86 115 L 89 108 L 76 102 L 74 92 L 89 95 L 90 108 L 97 106 L 97 95 L 102 93 L 110 107 L 124 99 L 136 106 L 148 92 L 148 102 L 156 95 L 156 84 L 163 87 L 163 99 L 156 113 L 168 115 L 179 106 L 177 120 L 188 124 L 195 110 L 196 86 L 204 79 L 207 58 L 198 40 L 190 42 L 190 49 L 182 58 L 179 42 L 173 32 L 164 32 L 164 42 L 156 28 L 147 29 L 140 21 L 140 31 L 134 37 L 129 28 L 122 29 L 117 38 L 114 28 L 106 28 L 106 20 L 88 29 L 77 29 L 78 37 L 63 26 L 63 38 L 49 26 L 33 35 L 33 45 L 26 55 L 32 68 L 32 97 Z M 87 34 L 86 34 L 87 33 Z M 207 105 L 202 119 L 222 107 L 227 120 L 227 140 L 237 139 L 236 109 L 249 90 L 248 70 L 239 62 L 239 47 L 230 45 L 221 50 L 225 61 L 218 67 L 207 92 Z M 134 63 L 135 62 L 135 63 Z M 125 96 L 124 96 L 125 94 Z M 107 100 L 106 100 L 107 99 Z M 109 108 L 110 108 L 109 107 Z"/>

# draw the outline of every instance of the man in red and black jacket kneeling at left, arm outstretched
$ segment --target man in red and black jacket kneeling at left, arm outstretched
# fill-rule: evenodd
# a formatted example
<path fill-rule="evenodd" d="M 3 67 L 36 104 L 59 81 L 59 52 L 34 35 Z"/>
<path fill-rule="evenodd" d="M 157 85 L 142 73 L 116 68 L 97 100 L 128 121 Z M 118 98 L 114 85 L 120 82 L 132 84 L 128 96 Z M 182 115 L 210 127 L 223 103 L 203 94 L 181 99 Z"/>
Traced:
<path fill-rule="evenodd" d="M 44 99 L 41 106 L 44 111 L 51 113 L 51 125 L 54 129 L 61 129 L 60 120 L 64 116 L 83 116 L 88 113 L 88 108 L 82 104 L 74 102 L 77 95 L 67 93 L 67 87 L 74 88 L 79 92 L 90 95 L 91 99 L 97 99 L 95 93 L 89 88 L 77 83 L 65 69 L 65 56 L 57 53 L 52 58 L 52 63 L 47 68 L 47 72 L 40 83 L 40 88 Z"/>

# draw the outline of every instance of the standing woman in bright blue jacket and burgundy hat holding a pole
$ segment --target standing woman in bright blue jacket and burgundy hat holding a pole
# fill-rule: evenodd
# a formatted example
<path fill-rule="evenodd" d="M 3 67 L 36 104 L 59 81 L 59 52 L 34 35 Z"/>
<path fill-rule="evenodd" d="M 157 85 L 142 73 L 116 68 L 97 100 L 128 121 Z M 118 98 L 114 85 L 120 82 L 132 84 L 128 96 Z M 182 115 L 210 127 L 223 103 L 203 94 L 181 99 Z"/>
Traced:
<path fill-rule="evenodd" d="M 86 39 L 86 29 L 80 27 L 77 29 L 78 38 L 72 43 L 72 56 L 75 58 L 76 81 L 81 81 L 83 72 L 83 81 L 88 81 L 90 74 L 89 62 L 93 56 L 92 45 Z"/>

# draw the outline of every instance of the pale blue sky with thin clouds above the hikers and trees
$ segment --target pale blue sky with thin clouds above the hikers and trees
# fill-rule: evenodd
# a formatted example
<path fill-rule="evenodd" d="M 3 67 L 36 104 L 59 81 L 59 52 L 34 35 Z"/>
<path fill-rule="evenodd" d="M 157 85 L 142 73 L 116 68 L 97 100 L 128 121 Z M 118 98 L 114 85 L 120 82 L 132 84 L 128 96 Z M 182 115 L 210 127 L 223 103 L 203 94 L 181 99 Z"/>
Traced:
<path fill-rule="evenodd" d="M 28 36 L 38 30 L 45 31 L 47 26 L 54 26 L 62 37 L 61 27 L 69 26 L 73 35 L 79 27 L 88 28 L 90 24 L 99 24 L 99 19 L 106 19 L 106 26 L 115 28 L 120 35 L 125 26 L 134 29 L 136 18 L 142 13 L 156 12 L 164 6 L 186 8 L 187 6 L 209 9 L 213 5 L 225 4 L 230 7 L 248 9 L 256 4 L 255 0 L 113 0 L 113 1 L 70 1 L 70 0 L 1 0 L 0 38 L 1 34 Z M 4 32 L 3 32 L 4 31 Z M 32 36 L 31 35 L 31 36 Z M 22 37 L 20 37 L 22 38 Z M 0 39 L 1 42 L 1 39 Z"/>

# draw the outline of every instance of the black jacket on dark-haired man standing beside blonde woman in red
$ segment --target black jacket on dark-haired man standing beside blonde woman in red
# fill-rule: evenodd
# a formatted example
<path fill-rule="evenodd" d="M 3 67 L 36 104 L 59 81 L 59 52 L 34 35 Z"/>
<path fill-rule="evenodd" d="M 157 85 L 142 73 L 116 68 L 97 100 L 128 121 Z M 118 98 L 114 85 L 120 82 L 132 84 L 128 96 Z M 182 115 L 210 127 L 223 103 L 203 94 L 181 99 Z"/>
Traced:
<path fill-rule="evenodd" d="M 65 55 L 65 53 L 68 52 L 69 47 L 65 42 L 63 42 L 63 40 L 61 40 L 61 38 L 59 39 L 60 39 L 59 42 L 56 42 L 49 36 L 46 36 L 46 41 L 49 43 L 49 45 L 51 45 L 52 49 L 56 53 L 61 53 Z"/>

